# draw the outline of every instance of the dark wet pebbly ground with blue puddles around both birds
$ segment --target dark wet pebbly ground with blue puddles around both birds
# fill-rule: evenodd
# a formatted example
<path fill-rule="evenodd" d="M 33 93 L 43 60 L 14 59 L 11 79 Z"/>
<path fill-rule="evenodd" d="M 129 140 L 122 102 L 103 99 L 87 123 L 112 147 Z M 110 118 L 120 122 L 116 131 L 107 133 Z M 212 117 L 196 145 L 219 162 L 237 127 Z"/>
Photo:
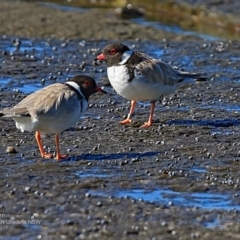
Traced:
<path fill-rule="evenodd" d="M 15 4 L 19 14 L 28 6 Z M 24 98 L 17 89 L 81 73 L 105 85 L 108 95 L 92 96 L 86 118 L 62 133 L 69 159 L 60 163 L 42 160 L 34 134 L 0 118 L 1 239 L 239 239 L 238 41 L 146 41 L 119 34 L 133 49 L 209 76 L 158 103 L 153 126 L 140 129 L 149 103 L 138 104 L 133 123 L 119 125 L 129 102 L 109 86 L 106 65 L 92 63 L 107 40 L 36 32 L 33 38 L 24 31 L 15 37 L 1 32 L 8 35 L 0 38 L 1 108 Z M 52 135 L 43 142 L 55 151 Z M 9 146 L 17 153 L 5 153 Z M 163 194 L 143 201 L 153 191 Z M 127 197 L 134 193 L 136 199 Z"/>

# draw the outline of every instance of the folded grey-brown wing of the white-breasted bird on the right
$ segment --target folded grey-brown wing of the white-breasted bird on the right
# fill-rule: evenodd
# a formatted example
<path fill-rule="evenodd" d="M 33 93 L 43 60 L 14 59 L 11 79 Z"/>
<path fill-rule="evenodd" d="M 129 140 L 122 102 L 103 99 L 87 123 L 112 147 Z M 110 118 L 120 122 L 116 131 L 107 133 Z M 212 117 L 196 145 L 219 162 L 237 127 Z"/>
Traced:
<path fill-rule="evenodd" d="M 202 75 L 201 73 L 178 71 L 169 64 L 157 59 L 146 59 L 136 66 L 136 68 L 140 73 L 147 76 L 149 82 L 170 86 L 181 82 L 184 78 L 197 78 Z"/>

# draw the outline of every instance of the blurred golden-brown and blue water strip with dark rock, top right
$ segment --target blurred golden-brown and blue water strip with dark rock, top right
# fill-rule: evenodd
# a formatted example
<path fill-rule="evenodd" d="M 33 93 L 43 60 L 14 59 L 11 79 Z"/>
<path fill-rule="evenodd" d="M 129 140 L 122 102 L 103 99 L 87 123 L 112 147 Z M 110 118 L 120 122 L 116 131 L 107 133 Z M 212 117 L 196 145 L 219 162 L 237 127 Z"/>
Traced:
<path fill-rule="evenodd" d="M 41 2 L 52 6 L 58 4 L 66 7 L 112 9 L 113 14 L 118 18 L 135 19 L 135 22 L 142 25 L 160 23 L 155 26 L 165 30 L 196 31 L 225 39 L 238 39 L 240 36 L 240 1 L 48 0 Z"/>

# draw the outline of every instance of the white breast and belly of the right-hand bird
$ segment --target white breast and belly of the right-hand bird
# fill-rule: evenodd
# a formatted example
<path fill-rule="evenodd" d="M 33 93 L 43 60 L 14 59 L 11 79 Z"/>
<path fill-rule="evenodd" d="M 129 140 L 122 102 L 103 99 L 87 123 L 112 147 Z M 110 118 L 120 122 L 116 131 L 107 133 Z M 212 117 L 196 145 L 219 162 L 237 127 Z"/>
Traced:
<path fill-rule="evenodd" d="M 135 74 L 134 79 L 129 80 L 125 66 L 109 67 L 108 78 L 115 91 L 128 100 L 157 100 L 161 95 L 169 95 L 176 90 L 176 86 L 149 82 L 144 75 Z"/>

